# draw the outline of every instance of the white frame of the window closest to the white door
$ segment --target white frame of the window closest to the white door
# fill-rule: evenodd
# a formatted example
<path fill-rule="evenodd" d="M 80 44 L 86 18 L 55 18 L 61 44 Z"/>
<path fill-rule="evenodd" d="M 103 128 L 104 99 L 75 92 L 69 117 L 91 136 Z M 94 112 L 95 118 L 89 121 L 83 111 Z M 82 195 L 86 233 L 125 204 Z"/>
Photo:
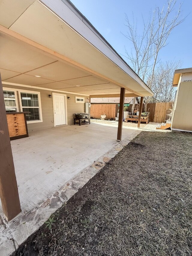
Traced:
<path fill-rule="evenodd" d="M 21 112 L 23 112 L 23 108 L 38 108 L 38 109 L 39 109 L 39 118 L 40 118 L 40 120 L 27 121 L 27 124 L 41 123 L 41 122 L 43 122 L 42 108 L 41 108 L 41 93 L 40 93 L 40 92 L 36 92 L 36 91 L 31 91 L 31 90 L 22 90 L 22 89 L 18 89 L 18 92 L 19 92 L 19 103 L 20 103 Z M 39 107 L 23 107 L 23 106 L 22 106 L 22 101 L 21 101 L 21 93 L 22 93 L 22 92 L 23 92 L 23 93 L 34 93 L 34 94 L 38 94 Z"/>

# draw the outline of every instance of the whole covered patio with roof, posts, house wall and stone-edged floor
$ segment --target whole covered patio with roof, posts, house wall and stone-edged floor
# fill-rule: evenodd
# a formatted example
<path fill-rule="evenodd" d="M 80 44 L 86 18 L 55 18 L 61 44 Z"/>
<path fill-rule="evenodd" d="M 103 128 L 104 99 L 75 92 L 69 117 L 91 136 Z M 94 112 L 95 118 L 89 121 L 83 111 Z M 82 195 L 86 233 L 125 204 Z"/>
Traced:
<path fill-rule="evenodd" d="M 141 97 L 142 105 L 153 92 L 70 1 L 13 0 L 10 8 L 7 0 L 0 14 L 0 245 L 12 250 L 137 135 L 122 129 L 125 97 Z M 119 96 L 118 128 L 71 126 L 91 98 Z M 29 138 L 11 146 L 10 109 L 30 113 Z M 81 172 L 83 182 L 78 176 L 58 198 Z"/>

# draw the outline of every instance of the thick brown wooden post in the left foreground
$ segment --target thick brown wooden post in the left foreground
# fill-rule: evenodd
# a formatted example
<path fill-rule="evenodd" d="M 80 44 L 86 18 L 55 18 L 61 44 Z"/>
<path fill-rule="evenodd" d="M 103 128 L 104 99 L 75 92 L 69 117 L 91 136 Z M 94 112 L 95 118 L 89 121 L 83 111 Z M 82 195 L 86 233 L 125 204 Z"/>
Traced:
<path fill-rule="evenodd" d="M 13 219 L 21 206 L 17 188 L 13 155 L 10 145 L 7 116 L 4 104 L 3 87 L 0 74 L 0 197 L 4 215 L 8 221 Z"/>

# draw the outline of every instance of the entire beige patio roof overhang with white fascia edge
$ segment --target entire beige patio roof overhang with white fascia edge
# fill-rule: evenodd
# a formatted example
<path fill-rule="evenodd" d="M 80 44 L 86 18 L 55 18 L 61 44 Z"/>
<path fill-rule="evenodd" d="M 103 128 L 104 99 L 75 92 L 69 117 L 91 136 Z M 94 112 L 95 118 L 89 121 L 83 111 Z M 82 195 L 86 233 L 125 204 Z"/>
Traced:
<path fill-rule="evenodd" d="M 69 1 L 3 1 L 0 10 L 3 84 L 92 98 L 119 97 L 121 88 L 126 97 L 153 95 Z"/>

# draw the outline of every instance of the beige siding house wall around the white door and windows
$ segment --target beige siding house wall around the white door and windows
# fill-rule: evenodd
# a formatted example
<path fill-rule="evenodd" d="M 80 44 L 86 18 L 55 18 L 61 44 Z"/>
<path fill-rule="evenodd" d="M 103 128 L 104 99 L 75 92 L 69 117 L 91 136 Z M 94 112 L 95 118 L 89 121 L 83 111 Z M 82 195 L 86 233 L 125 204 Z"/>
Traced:
<path fill-rule="evenodd" d="M 35 91 L 40 92 L 41 95 L 41 109 L 42 109 L 42 117 L 43 122 L 39 123 L 28 123 L 28 131 L 34 131 L 34 130 L 41 130 L 41 129 L 47 129 L 54 127 L 54 119 L 53 119 L 53 101 L 52 98 L 49 98 L 49 94 L 52 94 L 52 92 L 56 93 L 55 91 L 48 91 L 48 90 L 41 90 L 36 88 L 29 88 L 29 87 L 21 87 L 21 86 L 13 86 L 13 85 L 3 85 L 5 88 L 13 88 L 13 89 L 19 89 L 19 90 L 28 90 L 28 91 Z M 85 112 L 85 104 L 84 103 L 75 103 L 75 94 L 70 93 L 62 93 L 58 92 L 59 94 L 65 94 L 67 97 L 70 97 L 70 100 L 67 99 L 67 123 L 68 125 L 73 124 L 73 113 L 81 113 Z M 19 104 L 19 97 L 17 93 L 17 100 Z M 85 97 L 85 102 L 89 102 L 87 99 L 88 96 L 80 96 Z M 21 108 L 19 106 L 19 111 L 21 111 Z"/>

